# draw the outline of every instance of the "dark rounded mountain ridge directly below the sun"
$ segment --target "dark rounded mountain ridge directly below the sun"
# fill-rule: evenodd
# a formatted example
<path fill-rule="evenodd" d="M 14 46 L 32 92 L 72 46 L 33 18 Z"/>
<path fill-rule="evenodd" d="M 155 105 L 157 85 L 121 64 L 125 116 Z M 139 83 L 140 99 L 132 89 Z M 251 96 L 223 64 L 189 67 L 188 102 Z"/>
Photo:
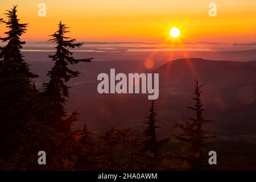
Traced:
<path fill-rule="evenodd" d="M 156 68 L 160 87 L 179 86 L 191 89 L 195 77 L 213 88 L 256 86 L 256 61 L 213 61 L 186 58 L 169 61 Z"/>

